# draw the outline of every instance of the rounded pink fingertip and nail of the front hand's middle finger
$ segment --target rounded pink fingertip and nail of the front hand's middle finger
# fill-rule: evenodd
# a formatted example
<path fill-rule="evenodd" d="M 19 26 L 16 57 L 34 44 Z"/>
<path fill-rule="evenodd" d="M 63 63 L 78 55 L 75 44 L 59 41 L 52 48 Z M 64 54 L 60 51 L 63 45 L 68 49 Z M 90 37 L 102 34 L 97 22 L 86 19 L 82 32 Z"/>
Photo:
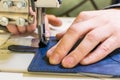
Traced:
<path fill-rule="evenodd" d="M 62 65 L 65 68 L 72 68 L 74 66 L 75 59 L 73 57 L 67 57 L 63 59 Z"/>

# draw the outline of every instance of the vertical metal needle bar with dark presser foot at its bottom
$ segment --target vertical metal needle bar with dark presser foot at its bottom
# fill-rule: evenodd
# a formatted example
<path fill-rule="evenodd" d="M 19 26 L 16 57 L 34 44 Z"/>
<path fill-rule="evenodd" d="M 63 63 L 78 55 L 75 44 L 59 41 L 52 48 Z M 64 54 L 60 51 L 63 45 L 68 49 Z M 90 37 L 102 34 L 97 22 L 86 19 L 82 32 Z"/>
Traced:
<path fill-rule="evenodd" d="M 39 47 L 45 47 L 48 43 L 48 39 L 45 36 L 45 8 L 37 8 L 38 15 L 38 35 L 40 38 Z"/>

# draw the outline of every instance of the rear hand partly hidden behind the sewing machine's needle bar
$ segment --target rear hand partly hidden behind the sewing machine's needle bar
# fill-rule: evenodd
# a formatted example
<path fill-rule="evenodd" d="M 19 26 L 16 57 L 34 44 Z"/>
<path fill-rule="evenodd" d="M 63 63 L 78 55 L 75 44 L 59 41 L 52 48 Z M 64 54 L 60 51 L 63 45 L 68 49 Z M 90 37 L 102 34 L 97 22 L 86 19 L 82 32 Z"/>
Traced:
<path fill-rule="evenodd" d="M 30 24 L 28 26 L 16 26 L 13 24 L 9 24 L 7 25 L 7 29 L 9 32 L 11 32 L 12 34 L 23 34 L 23 33 L 32 33 L 35 29 L 36 29 L 36 13 L 32 11 L 32 9 L 30 8 L 30 12 L 32 15 L 35 16 L 35 21 L 33 24 Z M 49 30 L 49 25 L 48 24 L 52 24 L 55 26 L 60 26 L 62 25 L 62 22 L 59 18 L 57 18 L 54 15 L 46 15 L 45 17 L 45 24 L 46 24 L 46 35 L 49 36 L 50 35 L 50 30 Z"/>

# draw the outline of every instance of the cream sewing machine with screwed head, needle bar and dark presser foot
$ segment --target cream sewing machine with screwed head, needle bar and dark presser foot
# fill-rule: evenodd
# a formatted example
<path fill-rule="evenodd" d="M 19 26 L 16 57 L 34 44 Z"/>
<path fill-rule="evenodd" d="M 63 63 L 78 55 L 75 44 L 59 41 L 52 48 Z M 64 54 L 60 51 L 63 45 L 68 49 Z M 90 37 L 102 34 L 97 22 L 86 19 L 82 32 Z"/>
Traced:
<path fill-rule="evenodd" d="M 26 26 L 34 23 L 31 7 L 37 15 L 40 47 L 44 47 L 49 40 L 45 37 L 45 8 L 58 8 L 60 4 L 61 0 L 0 0 L 0 25 Z"/>

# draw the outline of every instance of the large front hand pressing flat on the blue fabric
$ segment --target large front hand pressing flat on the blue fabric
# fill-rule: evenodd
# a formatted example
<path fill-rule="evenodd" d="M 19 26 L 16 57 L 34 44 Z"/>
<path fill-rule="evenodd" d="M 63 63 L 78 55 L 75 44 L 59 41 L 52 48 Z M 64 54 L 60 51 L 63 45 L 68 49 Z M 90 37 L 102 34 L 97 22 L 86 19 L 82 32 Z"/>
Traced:
<path fill-rule="evenodd" d="M 78 15 L 70 28 L 57 35 L 57 45 L 47 52 L 51 64 L 65 68 L 77 64 L 88 65 L 100 61 L 120 47 L 120 10 L 85 11 Z M 73 45 L 80 44 L 68 54 Z"/>

